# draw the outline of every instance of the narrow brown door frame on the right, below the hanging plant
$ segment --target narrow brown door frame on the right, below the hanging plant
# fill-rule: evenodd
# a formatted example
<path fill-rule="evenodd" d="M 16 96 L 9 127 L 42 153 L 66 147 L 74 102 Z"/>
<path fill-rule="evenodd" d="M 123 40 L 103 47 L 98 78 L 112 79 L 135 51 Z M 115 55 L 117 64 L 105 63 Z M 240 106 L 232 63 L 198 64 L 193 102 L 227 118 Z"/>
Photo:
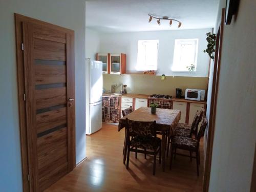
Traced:
<path fill-rule="evenodd" d="M 205 163 L 204 163 L 203 192 L 207 192 L 209 190 L 209 182 L 210 182 L 212 147 L 214 144 L 215 120 L 216 120 L 219 77 L 220 77 L 220 67 L 221 67 L 221 51 L 222 51 L 224 16 L 225 16 L 225 9 L 223 8 L 221 19 L 218 20 L 219 25 L 217 28 L 218 33 L 216 37 L 214 75 L 212 77 L 210 116 L 209 116 L 208 132 L 207 132 L 206 156 L 205 156 Z"/>

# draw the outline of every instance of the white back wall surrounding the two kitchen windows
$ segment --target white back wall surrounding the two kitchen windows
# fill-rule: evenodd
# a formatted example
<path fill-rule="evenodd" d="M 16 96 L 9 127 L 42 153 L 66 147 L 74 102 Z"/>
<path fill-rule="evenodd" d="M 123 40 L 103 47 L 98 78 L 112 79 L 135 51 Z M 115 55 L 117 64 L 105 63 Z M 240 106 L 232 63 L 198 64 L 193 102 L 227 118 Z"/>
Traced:
<path fill-rule="evenodd" d="M 126 53 L 126 72 L 136 72 L 138 40 L 159 39 L 157 75 L 207 77 L 209 57 L 203 53 L 207 48 L 206 34 L 212 29 L 174 30 L 154 32 L 103 33 L 100 35 L 101 53 Z M 175 39 L 198 38 L 197 72 L 180 73 L 170 70 L 173 63 Z"/>

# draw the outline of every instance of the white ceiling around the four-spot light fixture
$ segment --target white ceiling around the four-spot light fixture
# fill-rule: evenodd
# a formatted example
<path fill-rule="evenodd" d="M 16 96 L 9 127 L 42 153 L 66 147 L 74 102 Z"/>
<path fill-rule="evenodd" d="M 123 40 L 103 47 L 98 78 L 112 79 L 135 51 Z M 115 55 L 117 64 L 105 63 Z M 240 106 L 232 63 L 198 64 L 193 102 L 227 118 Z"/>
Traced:
<path fill-rule="evenodd" d="M 95 0 L 86 3 L 86 26 L 102 32 L 177 30 L 178 23 L 153 18 L 148 13 L 182 22 L 180 29 L 212 28 L 219 0 Z"/>

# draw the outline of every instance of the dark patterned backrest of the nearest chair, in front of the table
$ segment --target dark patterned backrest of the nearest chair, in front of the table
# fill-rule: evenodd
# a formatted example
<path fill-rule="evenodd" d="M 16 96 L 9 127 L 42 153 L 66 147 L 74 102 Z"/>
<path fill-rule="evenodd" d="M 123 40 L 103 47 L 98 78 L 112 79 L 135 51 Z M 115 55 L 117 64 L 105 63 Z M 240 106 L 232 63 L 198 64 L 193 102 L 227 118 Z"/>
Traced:
<path fill-rule="evenodd" d="M 156 136 L 156 121 L 133 121 L 126 118 L 128 136 Z"/>

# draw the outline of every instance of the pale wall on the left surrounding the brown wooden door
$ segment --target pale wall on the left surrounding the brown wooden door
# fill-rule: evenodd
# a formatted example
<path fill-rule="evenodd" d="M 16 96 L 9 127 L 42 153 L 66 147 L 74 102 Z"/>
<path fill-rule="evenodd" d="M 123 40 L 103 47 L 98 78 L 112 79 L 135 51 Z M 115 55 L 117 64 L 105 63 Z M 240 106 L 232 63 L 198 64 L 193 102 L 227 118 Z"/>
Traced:
<path fill-rule="evenodd" d="M 22 191 L 14 13 L 75 31 L 76 161 L 86 157 L 85 3 L 82 0 L 0 0 L 0 190 Z"/>

